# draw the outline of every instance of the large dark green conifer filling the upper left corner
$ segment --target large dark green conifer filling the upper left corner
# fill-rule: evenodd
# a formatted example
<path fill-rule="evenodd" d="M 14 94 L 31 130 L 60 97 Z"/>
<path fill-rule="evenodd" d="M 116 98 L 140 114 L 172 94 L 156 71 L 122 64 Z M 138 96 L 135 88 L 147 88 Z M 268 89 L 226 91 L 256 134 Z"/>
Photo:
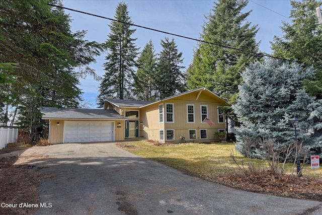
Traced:
<path fill-rule="evenodd" d="M 40 106 L 79 106 L 79 79 L 94 74 L 88 65 L 102 51 L 100 44 L 84 40 L 85 31 L 72 33 L 69 16 L 48 3 L 62 5 L 60 0 L 0 4 L 1 118 L 6 124 L 8 108 L 15 109 L 14 116 L 18 110 L 18 124 L 30 134 L 42 128 Z"/>

